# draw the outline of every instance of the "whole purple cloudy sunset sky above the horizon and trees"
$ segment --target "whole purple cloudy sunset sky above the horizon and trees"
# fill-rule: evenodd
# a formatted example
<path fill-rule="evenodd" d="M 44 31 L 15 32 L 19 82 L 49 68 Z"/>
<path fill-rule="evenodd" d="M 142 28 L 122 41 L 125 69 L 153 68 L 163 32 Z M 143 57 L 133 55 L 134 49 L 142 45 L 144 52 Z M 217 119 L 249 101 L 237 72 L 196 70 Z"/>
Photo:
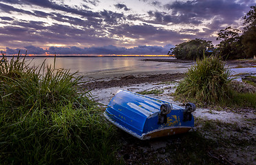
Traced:
<path fill-rule="evenodd" d="M 217 44 L 256 0 L 0 0 L 0 50 L 17 54 L 167 54 L 190 39 Z"/>

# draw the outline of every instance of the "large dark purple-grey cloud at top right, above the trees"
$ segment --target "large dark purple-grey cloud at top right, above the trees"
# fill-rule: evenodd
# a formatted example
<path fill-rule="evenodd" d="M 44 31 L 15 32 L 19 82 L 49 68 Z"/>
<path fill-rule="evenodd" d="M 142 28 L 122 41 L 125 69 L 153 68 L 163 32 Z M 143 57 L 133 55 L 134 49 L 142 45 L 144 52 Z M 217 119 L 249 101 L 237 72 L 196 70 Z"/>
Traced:
<path fill-rule="evenodd" d="M 189 19 L 202 21 L 203 19 L 212 19 L 221 17 L 227 23 L 241 18 L 244 10 L 248 8 L 245 3 L 225 0 L 193 0 L 193 1 L 175 1 L 165 5 L 171 15 L 182 17 L 182 21 L 189 22 Z"/>

